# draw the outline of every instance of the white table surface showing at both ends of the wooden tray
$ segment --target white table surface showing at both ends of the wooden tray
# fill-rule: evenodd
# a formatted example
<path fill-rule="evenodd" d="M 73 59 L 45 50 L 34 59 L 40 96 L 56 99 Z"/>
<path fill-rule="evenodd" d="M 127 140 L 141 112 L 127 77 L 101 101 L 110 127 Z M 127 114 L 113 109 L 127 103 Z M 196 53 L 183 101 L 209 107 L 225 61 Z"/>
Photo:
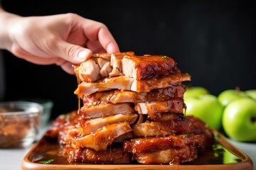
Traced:
<path fill-rule="evenodd" d="M 39 138 L 45 131 L 41 130 Z M 230 142 L 252 159 L 254 170 L 256 170 L 256 143 L 236 142 L 233 140 L 230 140 Z M 0 149 L 0 170 L 21 169 L 21 161 L 31 147 L 25 149 Z"/>

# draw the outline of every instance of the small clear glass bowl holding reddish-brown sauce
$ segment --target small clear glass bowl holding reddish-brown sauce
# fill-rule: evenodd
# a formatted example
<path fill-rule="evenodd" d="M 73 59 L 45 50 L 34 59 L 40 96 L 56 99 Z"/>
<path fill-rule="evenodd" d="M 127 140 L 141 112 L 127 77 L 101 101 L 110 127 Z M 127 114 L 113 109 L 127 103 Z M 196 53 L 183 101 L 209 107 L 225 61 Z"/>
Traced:
<path fill-rule="evenodd" d="M 37 139 L 42 112 L 39 103 L 0 102 L 0 148 L 31 145 Z"/>

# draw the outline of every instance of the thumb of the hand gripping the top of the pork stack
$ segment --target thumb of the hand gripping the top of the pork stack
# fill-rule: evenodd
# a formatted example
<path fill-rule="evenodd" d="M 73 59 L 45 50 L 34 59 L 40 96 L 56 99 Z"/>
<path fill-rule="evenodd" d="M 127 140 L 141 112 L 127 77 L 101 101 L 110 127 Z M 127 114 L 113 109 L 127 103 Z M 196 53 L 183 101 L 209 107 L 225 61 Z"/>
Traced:
<path fill-rule="evenodd" d="M 62 41 L 58 43 L 58 46 L 60 54 L 57 55 L 73 64 L 80 64 L 92 56 L 91 50 L 79 45 Z"/>

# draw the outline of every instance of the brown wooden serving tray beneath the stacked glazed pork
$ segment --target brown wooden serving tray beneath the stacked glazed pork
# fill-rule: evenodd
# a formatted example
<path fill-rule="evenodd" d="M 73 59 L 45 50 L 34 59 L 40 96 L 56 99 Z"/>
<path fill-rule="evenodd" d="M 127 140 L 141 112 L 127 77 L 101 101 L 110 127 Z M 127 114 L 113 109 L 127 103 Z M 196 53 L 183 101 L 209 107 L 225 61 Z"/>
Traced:
<path fill-rule="evenodd" d="M 86 163 L 69 163 L 65 157 L 59 154 L 59 145 L 56 141 L 47 140 L 42 137 L 40 141 L 33 146 L 33 148 L 23 158 L 21 169 L 23 170 L 37 170 L 37 169 L 253 169 L 252 160 L 247 154 L 240 151 L 228 142 L 228 140 L 219 132 L 215 132 L 218 140 L 213 149 L 198 155 L 198 159 L 194 162 L 189 162 L 180 165 L 169 164 L 86 164 Z M 50 164 L 41 164 L 39 162 L 53 159 Z"/>

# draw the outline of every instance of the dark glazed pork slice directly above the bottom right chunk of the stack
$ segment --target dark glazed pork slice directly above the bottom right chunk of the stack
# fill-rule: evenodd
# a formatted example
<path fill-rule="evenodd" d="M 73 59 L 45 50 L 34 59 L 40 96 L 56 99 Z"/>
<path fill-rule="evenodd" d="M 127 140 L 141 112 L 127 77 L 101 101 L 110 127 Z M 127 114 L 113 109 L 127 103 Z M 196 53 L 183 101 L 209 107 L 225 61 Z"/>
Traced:
<path fill-rule="evenodd" d="M 149 121 L 132 125 L 132 133 L 136 137 L 164 137 L 181 133 L 190 133 L 191 121 L 174 118 L 165 121 Z"/>

